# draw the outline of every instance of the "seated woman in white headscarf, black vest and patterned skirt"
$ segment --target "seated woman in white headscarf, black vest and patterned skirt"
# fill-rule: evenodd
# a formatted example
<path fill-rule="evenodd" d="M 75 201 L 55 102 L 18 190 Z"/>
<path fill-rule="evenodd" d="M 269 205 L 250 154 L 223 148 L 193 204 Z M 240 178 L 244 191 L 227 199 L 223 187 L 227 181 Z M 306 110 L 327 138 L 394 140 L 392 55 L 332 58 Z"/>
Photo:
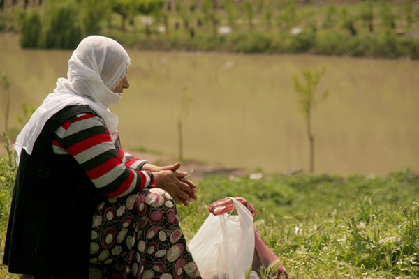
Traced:
<path fill-rule="evenodd" d="M 196 186 L 124 153 L 110 112 L 128 89 L 130 58 L 90 36 L 17 137 L 19 168 L 3 262 L 34 278 L 200 278 L 177 220 Z"/>

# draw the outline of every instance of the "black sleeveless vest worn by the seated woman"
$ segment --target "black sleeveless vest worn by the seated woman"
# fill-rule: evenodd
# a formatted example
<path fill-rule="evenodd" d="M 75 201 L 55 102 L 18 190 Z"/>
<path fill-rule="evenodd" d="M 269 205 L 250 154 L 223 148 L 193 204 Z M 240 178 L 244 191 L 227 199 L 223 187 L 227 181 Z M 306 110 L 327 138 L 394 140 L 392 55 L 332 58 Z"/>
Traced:
<path fill-rule="evenodd" d="M 89 278 L 94 196 L 98 195 L 72 156 L 52 151 L 55 130 L 71 116 L 94 113 L 72 105 L 54 114 L 32 154 L 22 149 L 10 209 L 3 263 L 11 273 L 38 278 Z"/>

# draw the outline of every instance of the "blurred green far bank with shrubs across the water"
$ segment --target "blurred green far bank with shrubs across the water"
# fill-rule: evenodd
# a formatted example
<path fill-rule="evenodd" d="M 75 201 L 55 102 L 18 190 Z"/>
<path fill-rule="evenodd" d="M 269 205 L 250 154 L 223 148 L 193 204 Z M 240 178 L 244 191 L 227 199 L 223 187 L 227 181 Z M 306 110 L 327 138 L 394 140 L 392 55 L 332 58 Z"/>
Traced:
<path fill-rule="evenodd" d="M 84 20 L 94 18 L 94 5 L 98 5 L 84 0 L 79 2 L 86 5 L 77 7 L 74 1 L 63 2 L 73 10 L 68 15 L 73 27 L 67 27 L 66 18 L 54 17 L 66 5 L 60 4 L 55 8 L 5 8 L 0 11 L 0 31 L 22 32 L 24 47 L 66 47 L 67 42 L 67 47 L 73 48 L 80 38 L 91 34 L 89 22 Z M 98 8 L 103 10 L 105 2 Z M 103 16 L 90 24 L 97 25 L 94 33 L 115 38 L 126 47 L 147 50 L 419 59 L 417 1 L 223 0 L 215 6 L 210 2 L 178 1 L 175 8 L 162 6 L 147 15 L 131 11 L 128 17 L 120 6 L 117 9 L 109 4 L 108 12 L 103 10 Z M 74 28 L 71 37 L 61 38 L 61 25 Z M 58 38 L 62 40 L 56 41 Z"/>

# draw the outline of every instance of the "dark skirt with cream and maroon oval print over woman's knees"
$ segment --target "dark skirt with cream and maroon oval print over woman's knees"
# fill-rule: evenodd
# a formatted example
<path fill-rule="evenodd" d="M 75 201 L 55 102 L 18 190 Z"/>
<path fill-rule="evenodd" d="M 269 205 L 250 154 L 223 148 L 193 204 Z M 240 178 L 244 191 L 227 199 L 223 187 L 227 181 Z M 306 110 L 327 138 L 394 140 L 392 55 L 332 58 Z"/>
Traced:
<path fill-rule="evenodd" d="M 90 263 L 109 279 L 200 279 L 179 227 L 175 202 L 158 188 L 98 204 Z"/>

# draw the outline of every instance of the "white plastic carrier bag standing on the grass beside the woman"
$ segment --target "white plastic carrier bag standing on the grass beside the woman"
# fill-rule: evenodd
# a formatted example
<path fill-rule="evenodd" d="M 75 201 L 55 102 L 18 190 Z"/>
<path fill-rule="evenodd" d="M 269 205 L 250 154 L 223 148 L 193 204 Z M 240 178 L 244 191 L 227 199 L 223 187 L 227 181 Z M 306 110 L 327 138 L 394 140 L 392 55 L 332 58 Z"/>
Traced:
<path fill-rule="evenodd" d="M 251 269 L 255 236 L 253 216 L 234 198 L 237 216 L 210 213 L 189 243 L 203 279 L 243 279 Z"/>

